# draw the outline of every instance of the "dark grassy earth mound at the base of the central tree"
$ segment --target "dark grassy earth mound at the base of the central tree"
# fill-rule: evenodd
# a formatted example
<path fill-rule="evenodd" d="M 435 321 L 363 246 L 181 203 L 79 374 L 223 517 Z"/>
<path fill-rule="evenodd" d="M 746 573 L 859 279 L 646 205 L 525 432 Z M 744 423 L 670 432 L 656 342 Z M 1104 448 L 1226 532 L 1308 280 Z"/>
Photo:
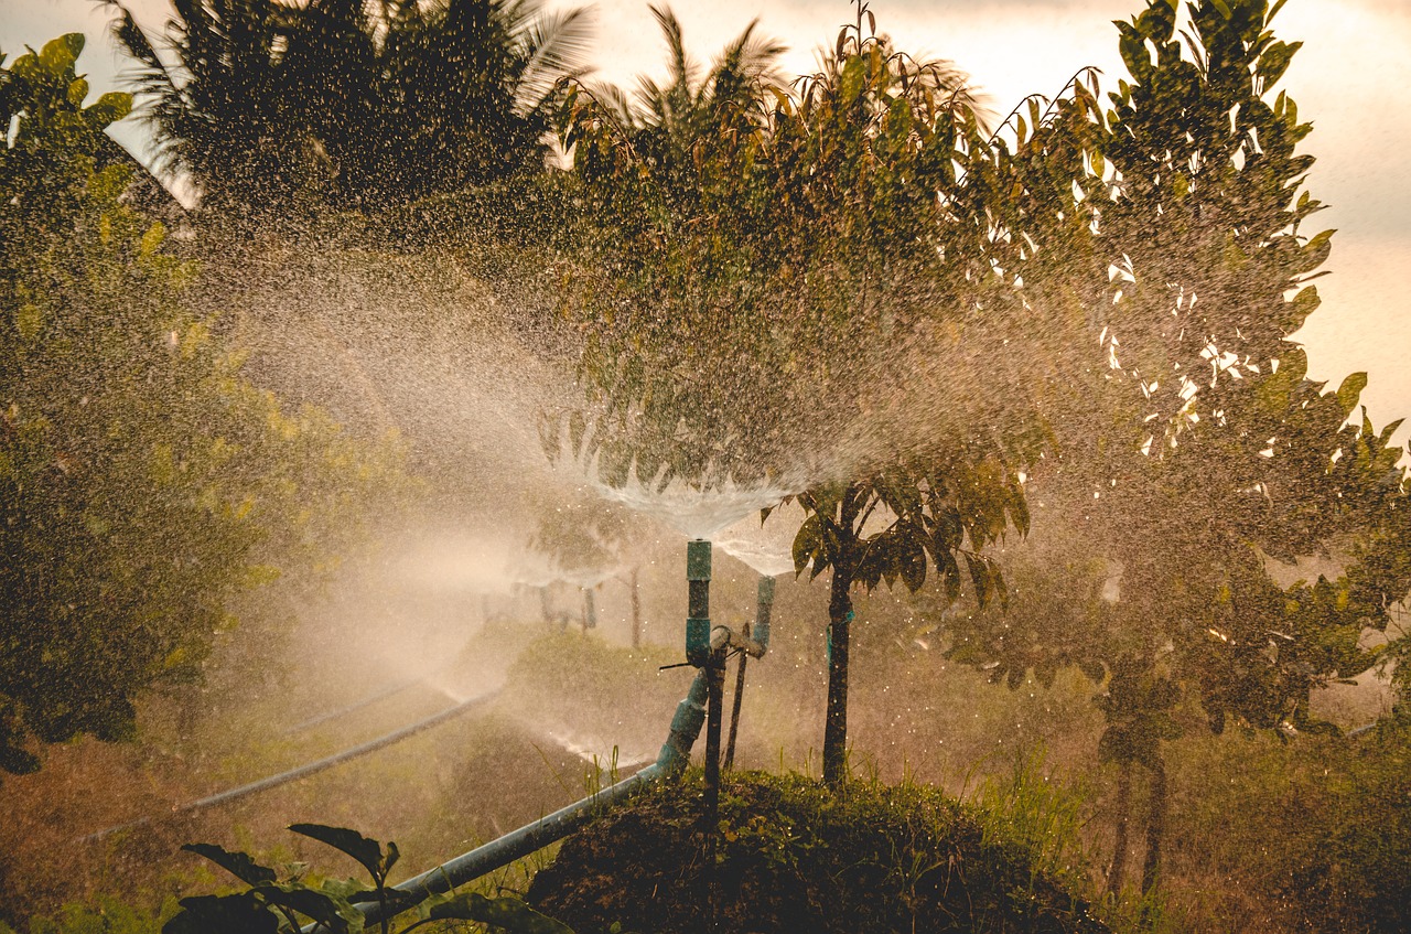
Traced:
<path fill-rule="evenodd" d="M 1108 930 L 1024 847 L 926 786 L 831 794 L 797 775 L 727 776 L 714 927 L 710 863 L 693 773 L 570 837 L 528 899 L 579 934 Z"/>

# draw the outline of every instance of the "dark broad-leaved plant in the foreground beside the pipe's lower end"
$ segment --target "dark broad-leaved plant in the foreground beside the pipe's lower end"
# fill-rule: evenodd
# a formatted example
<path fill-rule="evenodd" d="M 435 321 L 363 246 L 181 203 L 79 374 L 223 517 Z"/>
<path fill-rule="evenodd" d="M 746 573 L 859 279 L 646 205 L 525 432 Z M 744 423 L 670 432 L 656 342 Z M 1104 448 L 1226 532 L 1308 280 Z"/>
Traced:
<path fill-rule="evenodd" d="M 316 931 L 347 934 L 363 930 L 364 916 L 356 907 L 358 903 L 378 906 L 384 934 L 391 930 L 394 916 L 412 909 L 416 909 L 419 917 L 404 927 L 402 934 L 435 921 L 453 920 L 478 921 L 521 934 L 573 934 L 566 926 L 518 899 L 487 899 L 478 892 L 464 892 L 422 902 L 389 887 L 387 876 L 401 856 L 396 844 L 388 842 L 384 849 L 381 842 L 357 831 L 323 824 L 293 824 L 289 830 L 351 856 L 371 876 L 373 889 L 365 889 L 354 879 L 329 879 L 317 886 L 308 885 L 298 876 L 279 880 L 274 869 L 257 863 L 248 854 L 231 852 L 213 844 L 189 844 L 183 849 L 210 859 L 250 887 L 233 894 L 182 899 L 181 911 L 162 926 L 162 934 L 293 934 L 305 923 L 310 923 Z"/>

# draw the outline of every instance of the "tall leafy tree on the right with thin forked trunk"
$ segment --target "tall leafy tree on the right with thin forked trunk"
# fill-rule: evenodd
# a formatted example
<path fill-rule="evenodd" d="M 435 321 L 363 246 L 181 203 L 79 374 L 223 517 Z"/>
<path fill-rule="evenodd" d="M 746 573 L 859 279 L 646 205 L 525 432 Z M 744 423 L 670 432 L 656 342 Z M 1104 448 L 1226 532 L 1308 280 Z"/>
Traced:
<path fill-rule="evenodd" d="M 1180 735 L 1182 694 L 1216 731 L 1316 729 L 1309 691 L 1371 663 L 1362 631 L 1384 626 L 1411 584 L 1387 562 L 1291 587 L 1268 573 L 1270 557 L 1367 539 L 1401 495 L 1395 425 L 1343 425 L 1364 375 L 1325 392 L 1287 341 L 1318 305 L 1308 281 L 1332 231 L 1300 229 L 1319 203 L 1300 192 L 1312 157 L 1295 145 L 1311 127 L 1274 96 L 1298 48 L 1270 31 L 1278 6 L 1192 3 L 1175 40 L 1175 4 L 1150 3 L 1118 24 L 1132 83 L 1113 109 L 1060 107 L 1043 126 L 1077 185 L 1047 203 L 1091 236 L 1067 275 L 1034 278 L 1102 329 L 1108 365 L 1091 374 L 1095 415 L 1053 420 L 1057 457 L 1030 491 L 1057 516 L 1064 560 L 1030 562 L 1024 612 L 952 619 L 952 655 L 996 680 L 1050 680 L 1067 663 L 1109 677 L 1099 752 L 1120 770 L 1119 807 L 1134 765 L 1153 777 L 1143 887 L 1160 865 L 1161 742 Z M 1092 562 L 1074 605 L 1046 605 L 1055 573 Z M 1102 607 L 1102 581 L 1119 576 L 1120 600 Z M 1072 618 L 1088 625 L 1065 631 Z M 1123 813 L 1119 841 L 1125 827 Z"/>

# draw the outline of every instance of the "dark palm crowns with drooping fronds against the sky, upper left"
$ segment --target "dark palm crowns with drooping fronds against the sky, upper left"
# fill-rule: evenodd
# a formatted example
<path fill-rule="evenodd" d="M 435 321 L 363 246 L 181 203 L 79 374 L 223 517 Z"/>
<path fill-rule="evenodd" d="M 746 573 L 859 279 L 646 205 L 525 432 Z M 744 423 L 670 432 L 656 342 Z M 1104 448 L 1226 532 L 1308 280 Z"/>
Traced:
<path fill-rule="evenodd" d="M 171 166 L 214 217 L 275 226 L 542 171 L 587 27 L 538 0 L 179 1 L 158 49 L 113 6 Z"/>

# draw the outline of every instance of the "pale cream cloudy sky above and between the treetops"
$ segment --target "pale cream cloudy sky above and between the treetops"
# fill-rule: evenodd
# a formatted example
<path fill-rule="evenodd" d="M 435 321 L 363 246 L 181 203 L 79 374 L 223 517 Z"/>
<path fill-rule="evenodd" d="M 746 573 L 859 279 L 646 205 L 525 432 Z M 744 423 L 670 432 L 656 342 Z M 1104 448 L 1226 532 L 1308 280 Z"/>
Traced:
<path fill-rule="evenodd" d="M 130 0 L 150 35 L 159 35 L 169 0 Z M 646 0 L 593 6 L 597 76 L 631 83 L 665 71 L 665 44 Z M 1127 18 L 1143 0 L 873 0 L 879 31 L 917 56 L 954 61 L 1007 113 L 1029 93 L 1054 95 L 1085 65 L 1115 86 L 1125 76 L 1112 20 Z M 814 49 L 831 44 L 851 21 L 848 3 L 817 0 L 711 0 L 676 3 L 687 48 L 701 62 L 751 21 L 790 47 L 787 72 L 813 69 Z M 116 86 L 121 69 L 106 34 L 107 13 L 92 0 L 0 0 L 0 49 L 40 47 L 61 32 L 82 31 L 80 58 L 93 93 Z M 1379 426 L 1411 415 L 1411 0 L 1288 0 L 1274 21 L 1284 41 L 1302 41 L 1281 86 L 1314 123 L 1302 151 L 1318 157 L 1308 188 L 1329 205 L 1314 230 L 1338 229 L 1333 253 L 1318 281 L 1322 308 L 1295 336 L 1308 348 L 1309 375 L 1335 385 L 1364 370 L 1363 394 Z M 141 148 L 143 128 L 117 135 Z M 1398 437 L 1405 440 L 1411 425 Z"/>

